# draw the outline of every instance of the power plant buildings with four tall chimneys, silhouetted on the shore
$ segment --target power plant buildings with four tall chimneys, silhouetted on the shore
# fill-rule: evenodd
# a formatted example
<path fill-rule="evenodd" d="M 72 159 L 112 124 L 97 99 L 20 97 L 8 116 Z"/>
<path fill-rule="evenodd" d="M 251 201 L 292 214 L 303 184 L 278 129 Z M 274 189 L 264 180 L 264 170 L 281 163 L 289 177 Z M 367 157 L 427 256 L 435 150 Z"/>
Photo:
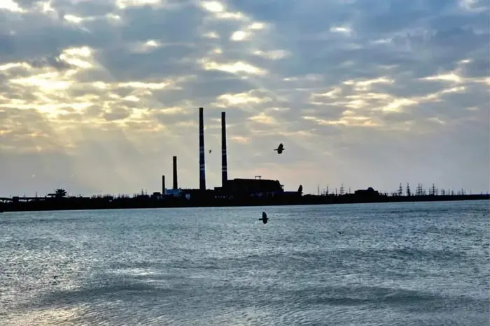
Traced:
<path fill-rule="evenodd" d="M 199 108 L 199 189 L 181 189 L 177 184 L 177 157 L 174 156 L 172 189 L 165 188 L 165 176 L 162 176 L 162 195 L 212 196 L 214 198 L 230 197 L 271 197 L 283 195 L 285 191 L 278 180 L 266 180 L 261 176 L 254 179 L 228 179 L 228 152 L 226 145 L 226 112 L 221 112 L 221 186 L 214 189 L 206 187 L 206 163 L 204 148 L 204 108 Z M 297 192 L 293 192 L 297 194 Z M 154 193 L 157 195 L 158 193 Z"/>

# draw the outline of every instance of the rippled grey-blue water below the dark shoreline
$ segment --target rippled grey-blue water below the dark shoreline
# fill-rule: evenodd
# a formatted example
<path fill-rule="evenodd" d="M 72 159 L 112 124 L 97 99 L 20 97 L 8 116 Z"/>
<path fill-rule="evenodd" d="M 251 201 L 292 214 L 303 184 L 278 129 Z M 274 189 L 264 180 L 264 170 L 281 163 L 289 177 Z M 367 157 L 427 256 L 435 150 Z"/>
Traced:
<path fill-rule="evenodd" d="M 490 325 L 489 202 L 263 210 L 0 214 L 0 325 Z"/>

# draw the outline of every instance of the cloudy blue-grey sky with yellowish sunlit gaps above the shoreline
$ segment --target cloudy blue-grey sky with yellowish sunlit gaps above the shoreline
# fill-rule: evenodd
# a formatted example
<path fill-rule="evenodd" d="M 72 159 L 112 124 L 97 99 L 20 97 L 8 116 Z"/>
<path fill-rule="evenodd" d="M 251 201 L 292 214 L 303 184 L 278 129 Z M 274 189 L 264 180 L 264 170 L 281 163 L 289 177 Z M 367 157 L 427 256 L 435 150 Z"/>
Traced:
<path fill-rule="evenodd" d="M 0 0 L 0 196 L 489 191 L 486 0 Z M 282 142 L 285 150 L 274 148 Z M 211 149 L 211 154 L 208 150 Z"/>

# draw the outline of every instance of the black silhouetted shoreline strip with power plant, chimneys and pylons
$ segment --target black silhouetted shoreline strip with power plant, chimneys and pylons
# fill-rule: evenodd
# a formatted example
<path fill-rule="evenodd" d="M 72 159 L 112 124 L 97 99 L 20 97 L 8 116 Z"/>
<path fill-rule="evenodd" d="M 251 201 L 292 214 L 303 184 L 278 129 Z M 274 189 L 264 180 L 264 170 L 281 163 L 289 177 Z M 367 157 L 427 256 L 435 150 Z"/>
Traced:
<path fill-rule="evenodd" d="M 274 149 L 277 154 L 284 151 L 283 144 Z M 211 149 L 209 149 L 211 153 Z M 221 112 L 221 186 L 214 189 L 206 187 L 206 166 L 204 150 L 204 108 L 199 108 L 199 169 L 200 186 L 198 189 L 179 188 L 177 156 L 173 156 L 172 188 L 166 188 L 165 175 L 162 175 L 161 191 L 151 195 L 141 191 L 139 194 L 129 195 L 92 195 L 92 197 L 69 196 L 59 188 L 54 193 L 48 193 L 45 197 L 13 196 L 0 198 L 0 212 L 13 211 L 37 211 L 59 209 L 113 209 L 113 208 L 147 208 L 147 207 L 209 207 L 209 206 L 251 206 L 251 205 L 316 205 L 316 204 L 342 204 L 360 202 L 402 202 L 402 201 L 433 201 L 433 200 L 489 200 L 490 195 L 466 195 L 461 189 L 438 189 L 432 184 L 428 192 L 422 184 L 416 188 L 413 194 L 409 184 L 406 187 L 406 195 L 402 195 L 402 184 L 398 190 L 391 194 L 379 193 L 373 188 L 359 189 L 351 193 L 345 193 L 344 184 L 340 191 L 330 193 L 328 186 L 321 193 L 318 186 L 317 195 L 303 195 L 303 186 L 297 191 L 284 191 L 279 180 L 262 179 L 255 176 L 254 179 L 228 179 L 228 160 L 226 146 L 226 114 Z M 427 195 L 428 193 L 428 195 Z M 267 214 L 262 216 L 262 222 L 267 223 Z"/>

